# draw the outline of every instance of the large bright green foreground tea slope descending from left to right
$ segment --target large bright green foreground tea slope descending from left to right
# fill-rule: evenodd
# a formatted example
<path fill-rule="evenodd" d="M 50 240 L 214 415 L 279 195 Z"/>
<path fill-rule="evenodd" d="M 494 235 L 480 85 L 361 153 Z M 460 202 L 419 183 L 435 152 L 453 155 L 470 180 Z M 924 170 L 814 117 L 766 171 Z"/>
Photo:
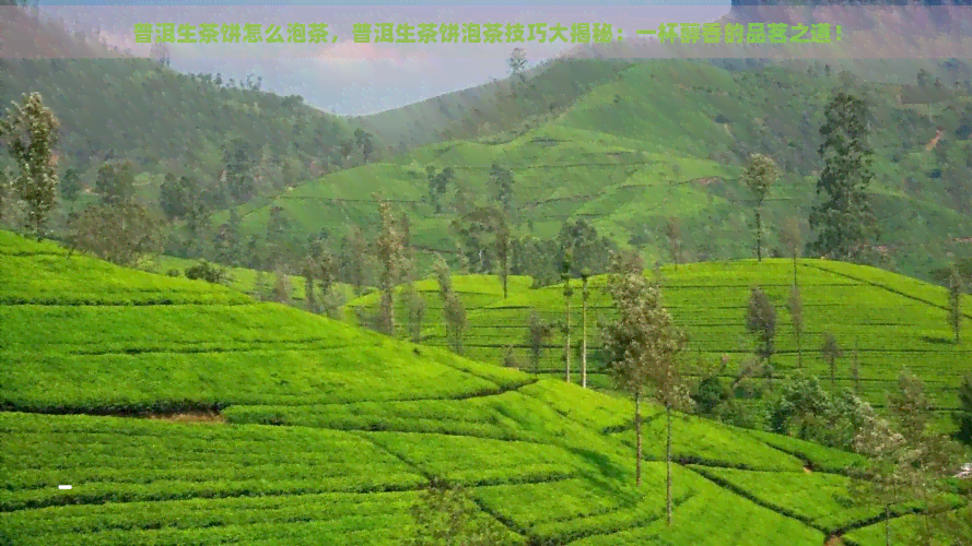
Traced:
<path fill-rule="evenodd" d="M 12 544 L 393 545 L 430 476 L 469 486 L 520 543 L 820 544 L 869 514 L 838 510 L 842 478 L 773 447 L 792 440 L 692 418 L 676 422 L 694 465 L 676 465 L 669 530 L 655 424 L 645 485 L 630 485 L 626 400 L 59 253 L 0 234 L 0 268 L 17 272 L 3 276 L 19 280 L 0 287 Z M 227 423 L 57 415 L 204 407 Z M 821 468 L 848 462 L 803 451 Z M 742 489 L 706 477 L 723 467 Z M 795 487 L 806 494 L 782 490 Z"/>

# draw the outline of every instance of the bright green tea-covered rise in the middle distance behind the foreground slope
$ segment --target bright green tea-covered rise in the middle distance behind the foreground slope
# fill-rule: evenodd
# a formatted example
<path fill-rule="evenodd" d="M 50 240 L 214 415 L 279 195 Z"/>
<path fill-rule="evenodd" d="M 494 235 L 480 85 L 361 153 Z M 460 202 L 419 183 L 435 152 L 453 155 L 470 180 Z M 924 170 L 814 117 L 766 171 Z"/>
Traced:
<path fill-rule="evenodd" d="M 851 369 L 857 349 L 860 366 L 860 389 L 866 399 L 881 403 L 883 393 L 893 387 L 902 367 L 922 377 L 934 399 L 942 407 L 955 407 L 956 389 L 965 373 L 972 373 L 972 297 L 964 296 L 964 336 L 955 345 L 946 322 L 947 293 L 944 288 L 889 273 L 841 262 L 799 261 L 799 283 L 804 300 L 803 358 L 805 367 L 821 378 L 830 370 L 820 354 L 822 336 L 830 331 L 844 348 L 836 378 L 840 385 L 852 385 Z M 793 283 L 792 261 L 769 259 L 728 263 L 695 263 L 666 266 L 665 299 L 676 321 L 689 333 L 691 352 L 717 361 L 721 355 L 731 356 L 730 375 L 752 351 L 752 339 L 746 332 L 745 313 L 752 286 L 761 286 L 776 308 L 776 355 L 773 364 L 782 372 L 797 368 L 797 345 L 787 310 Z M 605 277 L 592 281 L 588 311 L 590 351 L 598 346 L 597 320 L 611 316 L 611 302 L 601 287 Z M 530 309 L 537 309 L 549 321 L 564 318 L 562 287 L 552 286 L 514 295 L 469 313 L 465 336 L 467 355 L 483 361 L 502 364 L 505 346 L 514 343 L 522 361 L 528 361 L 524 343 Z M 576 345 L 581 339 L 581 295 L 572 298 L 572 334 Z M 441 324 L 430 325 L 424 343 L 445 345 Z M 541 368 L 547 373 L 563 375 L 563 336 L 558 330 L 548 343 Z M 574 372 L 579 358 L 572 357 Z M 575 380 L 579 376 L 574 376 Z M 596 384 L 606 385 L 607 378 L 595 372 Z"/>

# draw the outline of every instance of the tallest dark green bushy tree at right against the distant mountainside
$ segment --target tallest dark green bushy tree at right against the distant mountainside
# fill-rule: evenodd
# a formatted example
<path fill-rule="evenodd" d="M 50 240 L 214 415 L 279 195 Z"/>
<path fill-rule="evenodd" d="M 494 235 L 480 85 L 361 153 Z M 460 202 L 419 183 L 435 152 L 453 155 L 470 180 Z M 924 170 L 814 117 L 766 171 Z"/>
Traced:
<path fill-rule="evenodd" d="M 820 128 L 824 141 L 818 150 L 824 167 L 817 194 L 827 198 L 810 213 L 810 227 L 817 232 L 810 249 L 839 260 L 862 261 L 870 256 L 867 245 L 878 235 L 867 195 L 874 178 L 867 104 L 840 92 L 827 105 L 824 118 Z"/>

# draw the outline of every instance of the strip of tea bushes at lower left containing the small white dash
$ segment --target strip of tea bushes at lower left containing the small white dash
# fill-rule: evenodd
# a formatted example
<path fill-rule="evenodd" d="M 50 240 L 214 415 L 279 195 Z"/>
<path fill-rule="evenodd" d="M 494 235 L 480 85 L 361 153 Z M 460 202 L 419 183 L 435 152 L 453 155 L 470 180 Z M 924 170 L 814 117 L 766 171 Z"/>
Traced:
<path fill-rule="evenodd" d="M 411 489 L 424 478 L 354 435 L 0 413 L 0 510 Z M 362 465 L 367 461 L 367 465 Z M 71 489 L 58 489 L 71 484 Z"/>

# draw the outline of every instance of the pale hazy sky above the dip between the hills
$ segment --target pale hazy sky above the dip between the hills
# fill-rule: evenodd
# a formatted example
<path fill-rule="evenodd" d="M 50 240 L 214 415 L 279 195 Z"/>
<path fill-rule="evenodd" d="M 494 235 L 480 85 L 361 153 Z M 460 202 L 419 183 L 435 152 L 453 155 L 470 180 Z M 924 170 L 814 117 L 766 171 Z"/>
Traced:
<path fill-rule="evenodd" d="M 666 2 L 592 0 L 531 0 L 525 2 L 286 2 L 254 4 L 229 1 L 86 2 L 42 1 L 42 13 L 81 28 L 99 28 L 108 43 L 148 55 L 149 45 L 136 44 L 134 23 L 327 23 L 333 44 L 173 44 L 172 66 L 180 71 L 221 72 L 224 79 L 255 73 L 264 88 L 298 94 L 306 102 L 336 114 L 359 115 L 403 106 L 507 74 L 505 59 L 523 47 L 532 62 L 553 57 L 576 44 L 360 44 L 352 39 L 354 23 L 608 23 L 634 38 L 636 28 L 657 28 L 661 22 L 703 22 L 729 10 L 729 1 Z M 553 5 L 555 4 L 555 5 Z M 284 34 L 285 35 L 285 34 Z M 565 33 L 570 39 L 570 33 Z M 372 40 L 374 40 L 374 31 Z"/>

